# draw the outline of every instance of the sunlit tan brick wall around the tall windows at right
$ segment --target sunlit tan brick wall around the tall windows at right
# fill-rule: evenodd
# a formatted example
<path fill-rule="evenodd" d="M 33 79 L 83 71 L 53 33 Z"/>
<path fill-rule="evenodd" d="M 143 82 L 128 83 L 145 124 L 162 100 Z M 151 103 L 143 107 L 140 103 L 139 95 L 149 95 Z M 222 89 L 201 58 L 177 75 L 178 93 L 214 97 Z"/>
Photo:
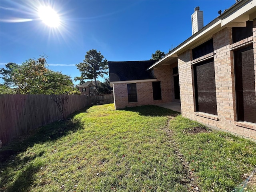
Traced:
<path fill-rule="evenodd" d="M 232 44 L 231 28 L 224 28 L 213 35 L 214 53 L 208 54 L 208 56 L 213 56 L 214 58 L 217 116 L 195 112 L 192 64 L 200 59 L 203 60 L 206 56 L 192 60 L 190 50 L 178 55 L 181 110 L 184 117 L 214 128 L 256 139 L 256 124 L 236 121 L 234 62 L 233 52 L 230 51 L 230 48 L 234 49 L 236 46 L 252 41 L 252 39 L 254 43 L 256 79 L 256 21 L 254 21 L 253 38 L 250 37 L 235 44 Z"/>

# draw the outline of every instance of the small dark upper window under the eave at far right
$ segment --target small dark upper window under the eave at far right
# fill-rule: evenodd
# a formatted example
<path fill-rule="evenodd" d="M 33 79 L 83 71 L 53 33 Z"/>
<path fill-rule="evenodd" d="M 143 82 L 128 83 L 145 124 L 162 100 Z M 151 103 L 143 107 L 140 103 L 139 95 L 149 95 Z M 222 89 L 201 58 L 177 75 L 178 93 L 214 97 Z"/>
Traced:
<path fill-rule="evenodd" d="M 252 21 L 246 22 L 246 27 L 233 27 L 232 28 L 232 42 L 236 43 L 240 40 L 252 36 Z"/>

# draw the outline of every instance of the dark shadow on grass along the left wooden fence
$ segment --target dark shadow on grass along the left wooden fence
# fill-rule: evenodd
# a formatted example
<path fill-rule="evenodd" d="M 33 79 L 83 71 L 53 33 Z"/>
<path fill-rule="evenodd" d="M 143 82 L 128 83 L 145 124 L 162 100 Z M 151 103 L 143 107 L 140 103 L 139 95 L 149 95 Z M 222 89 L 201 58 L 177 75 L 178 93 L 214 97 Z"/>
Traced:
<path fill-rule="evenodd" d="M 35 179 L 34 173 L 38 172 L 41 166 L 40 162 L 36 163 L 32 160 L 42 156 L 44 151 L 42 150 L 38 152 L 38 154 L 31 152 L 29 155 L 19 159 L 17 156 L 26 151 L 28 148 L 34 146 L 34 144 L 52 142 L 82 129 L 82 123 L 79 120 L 74 120 L 74 116 L 80 112 L 87 112 L 88 108 L 84 108 L 71 114 L 68 116 L 68 120 L 57 121 L 42 126 L 27 136 L 22 136 L 17 138 L 15 141 L 9 142 L 8 144 L 2 146 L 0 150 L 0 190 L 6 192 L 29 191 Z M 20 173 L 17 173 L 14 180 L 11 181 L 11 179 L 13 179 L 13 170 L 21 170 L 22 168 L 24 168 L 24 170 Z M 10 182 L 13 183 L 10 184 Z"/>

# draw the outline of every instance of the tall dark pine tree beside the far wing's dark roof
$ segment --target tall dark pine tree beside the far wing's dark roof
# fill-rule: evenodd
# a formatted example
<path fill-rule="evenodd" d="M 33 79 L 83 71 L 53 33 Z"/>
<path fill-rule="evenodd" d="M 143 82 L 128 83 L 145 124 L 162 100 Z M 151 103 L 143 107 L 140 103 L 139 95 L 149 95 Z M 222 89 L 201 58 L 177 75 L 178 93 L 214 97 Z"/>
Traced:
<path fill-rule="evenodd" d="M 84 56 L 84 61 L 76 64 L 77 68 L 81 72 L 80 77 L 76 77 L 75 80 L 90 79 L 95 81 L 95 88 L 97 90 L 98 76 L 103 77 L 103 74 L 108 74 L 108 61 L 104 59 L 104 56 L 97 52 L 97 50 L 89 50 Z"/>

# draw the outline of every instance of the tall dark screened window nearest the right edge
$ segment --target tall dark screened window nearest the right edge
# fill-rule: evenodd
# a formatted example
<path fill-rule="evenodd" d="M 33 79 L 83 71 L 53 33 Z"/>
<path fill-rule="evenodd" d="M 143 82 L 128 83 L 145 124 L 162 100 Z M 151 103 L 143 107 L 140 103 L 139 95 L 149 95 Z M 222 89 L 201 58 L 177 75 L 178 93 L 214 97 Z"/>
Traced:
<path fill-rule="evenodd" d="M 255 76 L 252 46 L 234 52 L 238 120 L 256 123 Z"/>

